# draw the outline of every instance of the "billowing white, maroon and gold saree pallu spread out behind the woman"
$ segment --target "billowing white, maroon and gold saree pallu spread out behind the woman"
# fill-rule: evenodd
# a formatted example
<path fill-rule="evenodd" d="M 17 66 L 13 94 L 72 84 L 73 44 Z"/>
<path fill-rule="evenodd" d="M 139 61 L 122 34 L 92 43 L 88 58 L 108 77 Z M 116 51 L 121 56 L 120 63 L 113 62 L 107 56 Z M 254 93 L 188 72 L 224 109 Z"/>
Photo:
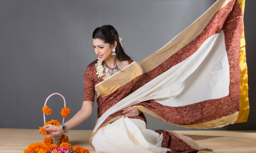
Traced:
<path fill-rule="evenodd" d="M 114 105 L 100 110 L 90 143 L 129 106 L 189 128 L 247 121 L 243 11 L 242 0 L 219 0 L 157 52 L 97 84 L 97 100 Z"/>

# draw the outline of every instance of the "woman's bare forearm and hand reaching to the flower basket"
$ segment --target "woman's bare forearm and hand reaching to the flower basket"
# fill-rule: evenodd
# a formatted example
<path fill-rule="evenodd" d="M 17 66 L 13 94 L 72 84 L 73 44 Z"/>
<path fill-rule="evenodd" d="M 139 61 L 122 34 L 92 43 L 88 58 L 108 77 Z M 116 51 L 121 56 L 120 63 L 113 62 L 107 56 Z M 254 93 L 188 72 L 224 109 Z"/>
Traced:
<path fill-rule="evenodd" d="M 81 122 L 89 118 L 93 111 L 93 102 L 92 101 L 83 101 L 82 108 L 65 124 L 67 129 L 70 130 L 73 127 L 79 125 Z M 55 126 L 48 124 L 44 126 L 44 130 L 47 131 L 49 134 L 58 135 L 64 132 L 62 130 L 62 126 Z"/>

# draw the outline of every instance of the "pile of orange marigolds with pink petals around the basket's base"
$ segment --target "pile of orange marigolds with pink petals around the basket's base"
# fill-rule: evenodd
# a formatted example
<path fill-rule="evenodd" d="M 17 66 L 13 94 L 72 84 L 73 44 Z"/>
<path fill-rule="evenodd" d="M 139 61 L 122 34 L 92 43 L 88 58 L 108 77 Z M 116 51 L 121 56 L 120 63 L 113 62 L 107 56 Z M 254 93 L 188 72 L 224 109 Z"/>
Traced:
<path fill-rule="evenodd" d="M 31 143 L 27 149 L 24 149 L 24 153 L 89 153 L 89 150 L 80 146 L 73 146 L 68 143 L 69 137 L 63 135 L 61 144 L 59 147 L 56 144 L 52 144 L 52 139 L 47 136 L 44 139 L 44 143 Z"/>

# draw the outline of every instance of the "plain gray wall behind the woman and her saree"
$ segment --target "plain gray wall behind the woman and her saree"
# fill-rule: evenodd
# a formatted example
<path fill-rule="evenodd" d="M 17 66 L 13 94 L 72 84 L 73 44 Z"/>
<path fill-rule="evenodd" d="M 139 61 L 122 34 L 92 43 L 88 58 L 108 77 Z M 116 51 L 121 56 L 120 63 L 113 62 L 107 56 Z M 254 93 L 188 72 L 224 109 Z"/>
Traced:
<path fill-rule="evenodd" d="M 139 62 L 160 49 L 216 1 L 210 0 L 11 0 L 0 1 L 0 128 L 38 129 L 44 124 L 46 98 L 62 94 L 70 117 L 81 108 L 83 74 L 97 56 L 92 33 L 113 25 L 128 55 Z M 256 130 L 256 100 L 253 80 L 256 35 L 254 6 L 246 0 L 245 39 L 249 73 L 250 114 L 247 122 L 209 130 Z M 47 103 L 52 114 L 46 120 L 62 120 L 63 100 L 52 96 Z M 147 118 L 151 130 L 186 129 Z M 75 130 L 93 130 L 97 103 L 90 118 Z"/>

